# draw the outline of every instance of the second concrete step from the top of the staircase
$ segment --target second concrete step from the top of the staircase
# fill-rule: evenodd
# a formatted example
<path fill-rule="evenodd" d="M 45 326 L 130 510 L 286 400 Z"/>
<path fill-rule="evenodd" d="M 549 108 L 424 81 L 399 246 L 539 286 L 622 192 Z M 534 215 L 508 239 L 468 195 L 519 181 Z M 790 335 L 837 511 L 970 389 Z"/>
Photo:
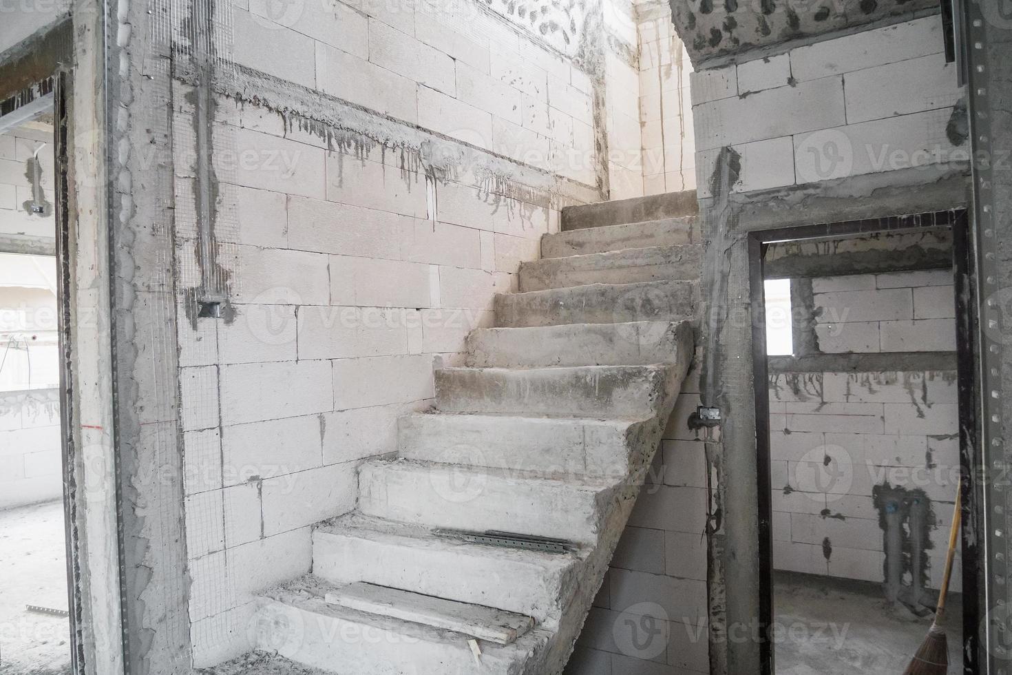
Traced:
<path fill-rule="evenodd" d="M 544 235 L 541 237 L 541 257 L 564 258 L 626 248 L 698 244 L 701 238 L 696 216 L 606 225 Z"/>

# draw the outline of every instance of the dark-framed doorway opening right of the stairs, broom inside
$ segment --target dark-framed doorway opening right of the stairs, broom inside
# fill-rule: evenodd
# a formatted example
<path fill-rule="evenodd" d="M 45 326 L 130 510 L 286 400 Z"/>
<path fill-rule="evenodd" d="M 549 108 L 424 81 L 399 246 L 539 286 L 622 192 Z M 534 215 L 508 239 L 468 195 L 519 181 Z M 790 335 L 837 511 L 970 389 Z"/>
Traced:
<path fill-rule="evenodd" d="M 931 624 L 978 462 L 966 222 L 753 235 L 766 673 L 903 672 Z M 950 673 L 974 672 L 975 556 L 956 552 Z"/>

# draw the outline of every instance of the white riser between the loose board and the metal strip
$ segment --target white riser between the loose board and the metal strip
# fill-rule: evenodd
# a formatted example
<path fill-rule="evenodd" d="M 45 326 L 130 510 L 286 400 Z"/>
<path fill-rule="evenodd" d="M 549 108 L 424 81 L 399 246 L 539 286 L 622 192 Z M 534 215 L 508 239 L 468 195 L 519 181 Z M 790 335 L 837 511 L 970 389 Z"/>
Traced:
<path fill-rule="evenodd" d="M 572 593 L 578 564 L 551 570 L 512 559 L 503 552 L 473 556 L 458 550 L 410 547 L 317 531 L 313 573 L 337 584 L 365 581 L 448 600 L 532 616 L 555 625 L 562 598 Z"/>

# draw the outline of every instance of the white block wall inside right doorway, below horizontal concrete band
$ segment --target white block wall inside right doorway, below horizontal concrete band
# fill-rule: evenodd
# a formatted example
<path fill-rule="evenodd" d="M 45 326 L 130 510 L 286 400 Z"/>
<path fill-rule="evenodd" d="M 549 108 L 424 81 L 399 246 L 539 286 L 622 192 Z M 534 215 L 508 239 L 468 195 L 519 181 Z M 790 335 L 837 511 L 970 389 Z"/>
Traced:
<path fill-rule="evenodd" d="M 793 401 L 798 378 L 815 382 L 821 394 Z M 932 551 L 944 549 L 959 475 L 954 372 L 787 373 L 771 385 L 774 406 L 808 409 L 773 427 L 776 569 L 882 581 L 883 532 L 872 488 L 886 482 L 925 492 L 936 516 Z M 869 424 L 869 417 L 877 421 Z M 940 564 L 932 558 L 933 568 Z M 930 570 L 935 584 L 936 572 Z"/>

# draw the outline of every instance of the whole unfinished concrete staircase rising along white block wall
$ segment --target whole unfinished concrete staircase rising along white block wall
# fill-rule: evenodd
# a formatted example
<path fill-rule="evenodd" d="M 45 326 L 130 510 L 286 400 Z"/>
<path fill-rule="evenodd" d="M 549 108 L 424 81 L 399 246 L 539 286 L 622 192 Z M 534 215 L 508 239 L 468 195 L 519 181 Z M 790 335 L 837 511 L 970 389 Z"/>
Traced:
<path fill-rule="evenodd" d="M 400 456 L 316 528 L 313 574 L 263 595 L 260 651 L 341 675 L 563 671 L 692 358 L 694 213 L 694 192 L 564 210 L 467 367 L 401 420 Z"/>

